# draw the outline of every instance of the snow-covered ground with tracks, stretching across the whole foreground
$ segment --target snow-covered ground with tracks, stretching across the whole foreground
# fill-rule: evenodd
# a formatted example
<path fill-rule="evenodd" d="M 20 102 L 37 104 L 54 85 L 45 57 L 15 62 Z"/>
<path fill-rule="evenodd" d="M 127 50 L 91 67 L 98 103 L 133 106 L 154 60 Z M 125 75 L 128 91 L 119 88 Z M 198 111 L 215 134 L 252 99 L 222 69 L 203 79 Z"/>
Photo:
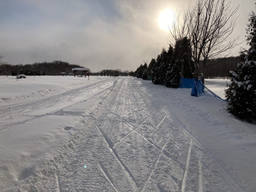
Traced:
<path fill-rule="evenodd" d="M 256 191 L 256 126 L 211 94 L 100 76 L 0 90 L 0 191 Z"/>

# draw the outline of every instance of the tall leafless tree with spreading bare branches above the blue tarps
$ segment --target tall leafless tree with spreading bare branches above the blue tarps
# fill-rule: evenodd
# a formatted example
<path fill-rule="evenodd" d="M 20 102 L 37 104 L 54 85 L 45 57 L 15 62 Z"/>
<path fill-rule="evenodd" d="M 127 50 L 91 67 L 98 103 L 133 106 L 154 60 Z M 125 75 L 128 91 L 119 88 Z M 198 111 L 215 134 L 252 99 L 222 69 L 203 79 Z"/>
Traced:
<path fill-rule="evenodd" d="M 232 35 L 238 8 L 239 5 L 231 8 L 231 1 L 226 0 L 197 0 L 195 4 L 190 1 L 187 8 L 182 6 L 176 11 L 171 37 L 174 41 L 184 36 L 190 39 L 196 79 L 201 76 L 200 60 L 203 61 L 201 72 L 204 73 L 207 59 L 228 56 L 239 44 L 240 36 Z"/>

